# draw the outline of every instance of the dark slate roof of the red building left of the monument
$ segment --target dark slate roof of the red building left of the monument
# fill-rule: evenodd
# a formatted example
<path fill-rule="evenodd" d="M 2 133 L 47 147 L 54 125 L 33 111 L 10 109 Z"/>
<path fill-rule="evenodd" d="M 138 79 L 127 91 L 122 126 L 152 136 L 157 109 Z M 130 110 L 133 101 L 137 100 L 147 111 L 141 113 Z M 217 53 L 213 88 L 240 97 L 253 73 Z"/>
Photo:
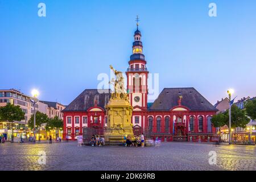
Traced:
<path fill-rule="evenodd" d="M 105 109 L 105 105 L 111 96 L 110 89 L 85 89 L 79 96 L 75 98 L 63 111 L 85 111 L 93 107 L 97 100 L 97 105 Z"/>

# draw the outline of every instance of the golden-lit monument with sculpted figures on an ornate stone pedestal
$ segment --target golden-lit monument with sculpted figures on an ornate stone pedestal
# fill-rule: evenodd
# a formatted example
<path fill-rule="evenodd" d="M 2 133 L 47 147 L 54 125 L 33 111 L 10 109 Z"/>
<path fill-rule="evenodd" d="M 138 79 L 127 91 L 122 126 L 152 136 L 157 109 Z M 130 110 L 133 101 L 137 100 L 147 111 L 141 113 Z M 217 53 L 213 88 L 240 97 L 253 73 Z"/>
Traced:
<path fill-rule="evenodd" d="M 126 93 L 125 79 L 122 72 L 114 69 L 112 65 L 109 67 L 114 72 L 115 78 L 109 81 L 109 84 L 114 85 L 114 90 L 108 104 L 105 106 L 108 114 L 105 139 L 109 142 L 123 142 L 124 137 L 134 136 L 133 127 L 131 126 L 133 107 Z"/>

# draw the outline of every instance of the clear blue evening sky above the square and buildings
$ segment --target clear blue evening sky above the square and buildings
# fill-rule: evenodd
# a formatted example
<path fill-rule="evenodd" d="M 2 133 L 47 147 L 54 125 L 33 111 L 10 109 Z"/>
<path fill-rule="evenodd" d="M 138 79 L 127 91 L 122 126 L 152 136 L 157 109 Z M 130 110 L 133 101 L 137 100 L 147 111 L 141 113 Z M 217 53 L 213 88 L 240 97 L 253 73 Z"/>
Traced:
<path fill-rule="evenodd" d="M 46 3 L 46 17 L 38 4 Z M 208 16 L 210 2 L 217 17 Z M 212 104 L 233 88 L 256 96 L 256 1 L 0 0 L 0 89 L 69 104 L 109 64 L 128 67 L 135 18 L 147 68 L 165 87 L 195 87 Z"/>

